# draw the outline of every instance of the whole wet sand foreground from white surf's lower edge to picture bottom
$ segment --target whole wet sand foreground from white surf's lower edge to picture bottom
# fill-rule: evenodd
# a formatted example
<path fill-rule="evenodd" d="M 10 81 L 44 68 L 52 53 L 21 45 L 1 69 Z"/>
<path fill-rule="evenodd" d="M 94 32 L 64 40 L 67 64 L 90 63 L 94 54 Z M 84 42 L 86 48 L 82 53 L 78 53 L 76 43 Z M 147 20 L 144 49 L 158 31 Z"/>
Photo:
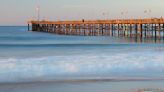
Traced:
<path fill-rule="evenodd" d="M 163 92 L 163 79 L 65 79 L 1 83 L 0 92 Z"/>

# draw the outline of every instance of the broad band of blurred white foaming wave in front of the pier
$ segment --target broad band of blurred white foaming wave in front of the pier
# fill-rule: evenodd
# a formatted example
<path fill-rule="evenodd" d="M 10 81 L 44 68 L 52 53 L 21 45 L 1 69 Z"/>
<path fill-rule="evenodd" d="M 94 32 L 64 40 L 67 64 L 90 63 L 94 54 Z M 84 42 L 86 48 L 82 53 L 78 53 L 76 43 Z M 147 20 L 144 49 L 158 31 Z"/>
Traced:
<path fill-rule="evenodd" d="M 163 77 L 164 52 L 0 59 L 0 82 L 60 77 Z"/>

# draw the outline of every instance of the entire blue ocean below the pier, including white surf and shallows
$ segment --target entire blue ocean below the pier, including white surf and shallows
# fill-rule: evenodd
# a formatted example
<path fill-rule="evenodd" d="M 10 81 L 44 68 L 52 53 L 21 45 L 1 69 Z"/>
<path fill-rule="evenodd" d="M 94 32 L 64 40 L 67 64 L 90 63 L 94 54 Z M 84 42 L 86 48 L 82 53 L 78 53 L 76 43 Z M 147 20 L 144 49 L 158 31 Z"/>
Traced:
<path fill-rule="evenodd" d="M 0 27 L 0 92 L 137 92 L 163 85 L 163 38 L 141 42 Z"/>

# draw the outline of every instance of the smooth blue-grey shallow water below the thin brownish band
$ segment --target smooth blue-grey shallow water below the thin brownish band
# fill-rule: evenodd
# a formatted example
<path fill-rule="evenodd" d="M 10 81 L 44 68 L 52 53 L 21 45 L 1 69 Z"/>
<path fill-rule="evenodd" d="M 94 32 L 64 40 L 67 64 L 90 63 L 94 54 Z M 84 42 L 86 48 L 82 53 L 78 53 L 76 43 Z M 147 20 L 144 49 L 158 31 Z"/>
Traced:
<path fill-rule="evenodd" d="M 1 92 L 163 92 L 164 81 L 22 83 L 0 85 Z M 161 91 L 159 91 L 161 90 Z"/>

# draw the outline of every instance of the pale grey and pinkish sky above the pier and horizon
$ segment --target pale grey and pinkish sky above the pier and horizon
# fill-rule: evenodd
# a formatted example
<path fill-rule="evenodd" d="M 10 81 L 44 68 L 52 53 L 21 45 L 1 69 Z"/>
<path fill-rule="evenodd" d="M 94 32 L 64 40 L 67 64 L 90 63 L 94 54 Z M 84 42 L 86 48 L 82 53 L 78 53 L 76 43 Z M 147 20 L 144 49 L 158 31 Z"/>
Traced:
<path fill-rule="evenodd" d="M 40 20 L 101 20 L 164 16 L 164 0 L 0 0 L 0 25 Z M 146 11 L 144 13 L 144 11 Z"/>

